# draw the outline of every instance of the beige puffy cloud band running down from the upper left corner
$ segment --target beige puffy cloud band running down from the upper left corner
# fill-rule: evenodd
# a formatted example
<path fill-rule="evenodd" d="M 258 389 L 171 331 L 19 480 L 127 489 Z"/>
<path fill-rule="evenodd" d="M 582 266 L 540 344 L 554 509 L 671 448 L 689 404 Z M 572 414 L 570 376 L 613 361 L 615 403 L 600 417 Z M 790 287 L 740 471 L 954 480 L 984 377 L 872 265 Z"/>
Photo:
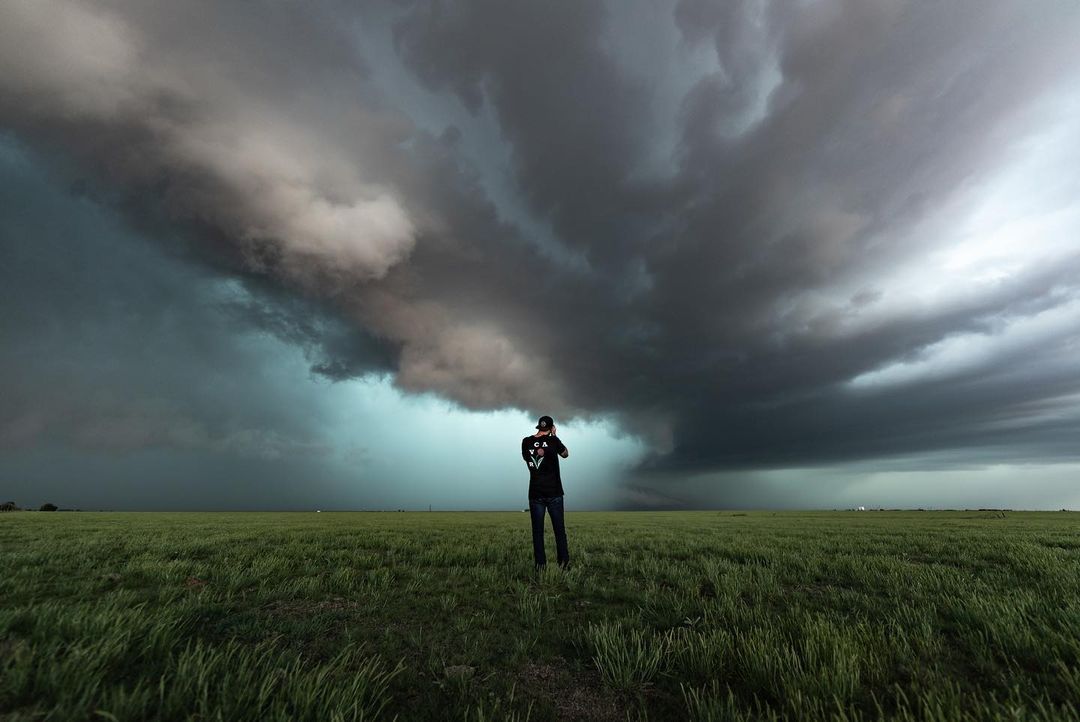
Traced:
<path fill-rule="evenodd" d="M 280 253 L 288 276 L 314 265 L 378 277 L 411 249 L 411 221 L 365 182 L 360 159 L 339 162 L 301 113 L 262 112 L 235 73 L 170 47 L 166 28 L 68 2 L 19 0 L 4 21 L 2 103 L 15 127 L 53 126 L 123 190 L 160 186 L 168 218 L 206 223 L 246 255 Z"/>

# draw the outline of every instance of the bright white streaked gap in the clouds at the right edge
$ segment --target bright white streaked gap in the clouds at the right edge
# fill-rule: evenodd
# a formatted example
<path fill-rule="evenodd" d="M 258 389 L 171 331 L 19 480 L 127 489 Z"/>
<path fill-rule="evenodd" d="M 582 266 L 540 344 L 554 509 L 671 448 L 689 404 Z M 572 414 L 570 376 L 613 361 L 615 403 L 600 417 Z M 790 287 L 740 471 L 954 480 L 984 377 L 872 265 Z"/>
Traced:
<path fill-rule="evenodd" d="M 926 253 L 912 254 L 905 265 L 877 282 L 879 300 L 853 314 L 847 329 L 880 323 L 892 314 L 912 309 L 977 306 L 982 299 L 1001 295 L 1011 287 L 1052 275 L 1058 264 L 1080 253 L 1076 229 L 1080 227 L 1080 126 L 1072 119 L 1080 103 L 1056 100 L 1039 109 L 1054 123 L 1048 131 L 1030 135 L 1004 153 L 998 175 L 943 214 L 940 241 L 931 240 Z M 931 228 L 930 232 L 935 232 Z M 918 245 L 913 241 L 913 245 Z M 1042 289 L 1056 301 L 1050 308 L 1003 310 L 982 332 L 944 338 L 913 357 L 859 374 L 852 389 L 915 383 L 947 378 L 977 369 L 1005 354 L 1048 348 L 1053 339 L 1080 331 L 1080 300 L 1069 294 Z M 1064 336 L 1063 336 L 1064 335 Z"/>

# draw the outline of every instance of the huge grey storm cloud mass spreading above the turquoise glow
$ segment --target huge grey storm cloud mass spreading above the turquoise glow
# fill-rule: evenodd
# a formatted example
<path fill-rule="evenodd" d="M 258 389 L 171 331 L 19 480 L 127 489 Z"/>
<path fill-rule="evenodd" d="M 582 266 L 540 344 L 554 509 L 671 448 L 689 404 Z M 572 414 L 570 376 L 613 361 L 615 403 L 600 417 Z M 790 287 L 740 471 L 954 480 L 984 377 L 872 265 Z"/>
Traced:
<path fill-rule="evenodd" d="M 0 122 L 335 379 L 657 478 L 1075 459 L 1080 9 L 659 8 L 15 2 Z"/>

